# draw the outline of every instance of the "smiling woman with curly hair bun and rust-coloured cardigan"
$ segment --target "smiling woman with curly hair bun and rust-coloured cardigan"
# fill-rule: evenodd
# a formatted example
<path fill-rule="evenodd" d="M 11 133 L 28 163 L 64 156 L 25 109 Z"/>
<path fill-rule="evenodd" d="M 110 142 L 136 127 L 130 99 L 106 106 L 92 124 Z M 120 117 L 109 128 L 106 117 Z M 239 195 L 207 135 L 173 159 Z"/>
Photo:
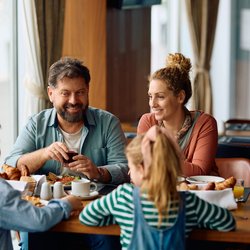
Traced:
<path fill-rule="evenodd" d="M 137 133 L 153 125 L 165 127 L 177 140 L 184 157 L 183 174 L 218 175 L 215 155 L 218 143 L 217 122 L 201 110 L 189 111 L 192 96 L 191 62 L 180 53 L 169 54 L 166 67 L 149 78 L 150 113 L 144 114 Z"/>

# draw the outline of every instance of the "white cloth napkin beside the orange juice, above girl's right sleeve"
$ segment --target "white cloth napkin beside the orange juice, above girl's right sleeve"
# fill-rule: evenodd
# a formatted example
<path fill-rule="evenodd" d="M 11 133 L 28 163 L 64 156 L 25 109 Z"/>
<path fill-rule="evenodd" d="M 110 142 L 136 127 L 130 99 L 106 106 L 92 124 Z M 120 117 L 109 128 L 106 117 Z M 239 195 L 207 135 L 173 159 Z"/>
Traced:
<path fill-rule="evenodd" d="M 199 198 L 228 210 L 237 209 L 237 203 L 231 188 L 224 190 L 189 190 L 189 192 L 195 193 Z"/>

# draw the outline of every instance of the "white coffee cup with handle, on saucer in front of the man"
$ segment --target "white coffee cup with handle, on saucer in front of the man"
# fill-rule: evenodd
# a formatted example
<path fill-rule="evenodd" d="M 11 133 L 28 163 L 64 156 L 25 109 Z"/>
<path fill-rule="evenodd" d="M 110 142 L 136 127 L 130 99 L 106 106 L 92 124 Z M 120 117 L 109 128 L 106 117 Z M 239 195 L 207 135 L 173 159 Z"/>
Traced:
<path fill-rule="evenodd" d="M 89 196 L 97 189 L 97 185 L 87 179 L 74 180 L 71 182 L 71 193 L 75 196 Z"/>

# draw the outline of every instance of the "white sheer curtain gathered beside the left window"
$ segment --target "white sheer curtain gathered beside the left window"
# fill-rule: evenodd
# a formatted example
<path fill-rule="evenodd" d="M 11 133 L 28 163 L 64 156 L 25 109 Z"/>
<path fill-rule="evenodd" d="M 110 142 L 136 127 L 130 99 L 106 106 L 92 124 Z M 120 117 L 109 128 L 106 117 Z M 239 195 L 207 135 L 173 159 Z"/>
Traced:
<path fill-rule="evenodd" d="M 36 12 L 33 0 L 23 1 L 23 36 L 25 39 L 26 57 L 24 73 L 24 118 L 33 115 L 45 107 L 47 93 L 44 91 L 41 69 L 40 43 L 37 32 Z"/>

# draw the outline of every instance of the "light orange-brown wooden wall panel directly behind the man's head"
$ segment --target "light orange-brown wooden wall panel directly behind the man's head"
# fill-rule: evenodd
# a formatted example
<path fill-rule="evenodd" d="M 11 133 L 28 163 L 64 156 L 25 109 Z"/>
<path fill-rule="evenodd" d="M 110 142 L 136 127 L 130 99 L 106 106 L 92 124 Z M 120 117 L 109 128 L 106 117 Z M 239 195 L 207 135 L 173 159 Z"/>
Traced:
<path fill-rule="evenodd" d="M 106 109 L 106 1 L 66 0 L 63 56 L 84 61 L 90 105 Z"/>

